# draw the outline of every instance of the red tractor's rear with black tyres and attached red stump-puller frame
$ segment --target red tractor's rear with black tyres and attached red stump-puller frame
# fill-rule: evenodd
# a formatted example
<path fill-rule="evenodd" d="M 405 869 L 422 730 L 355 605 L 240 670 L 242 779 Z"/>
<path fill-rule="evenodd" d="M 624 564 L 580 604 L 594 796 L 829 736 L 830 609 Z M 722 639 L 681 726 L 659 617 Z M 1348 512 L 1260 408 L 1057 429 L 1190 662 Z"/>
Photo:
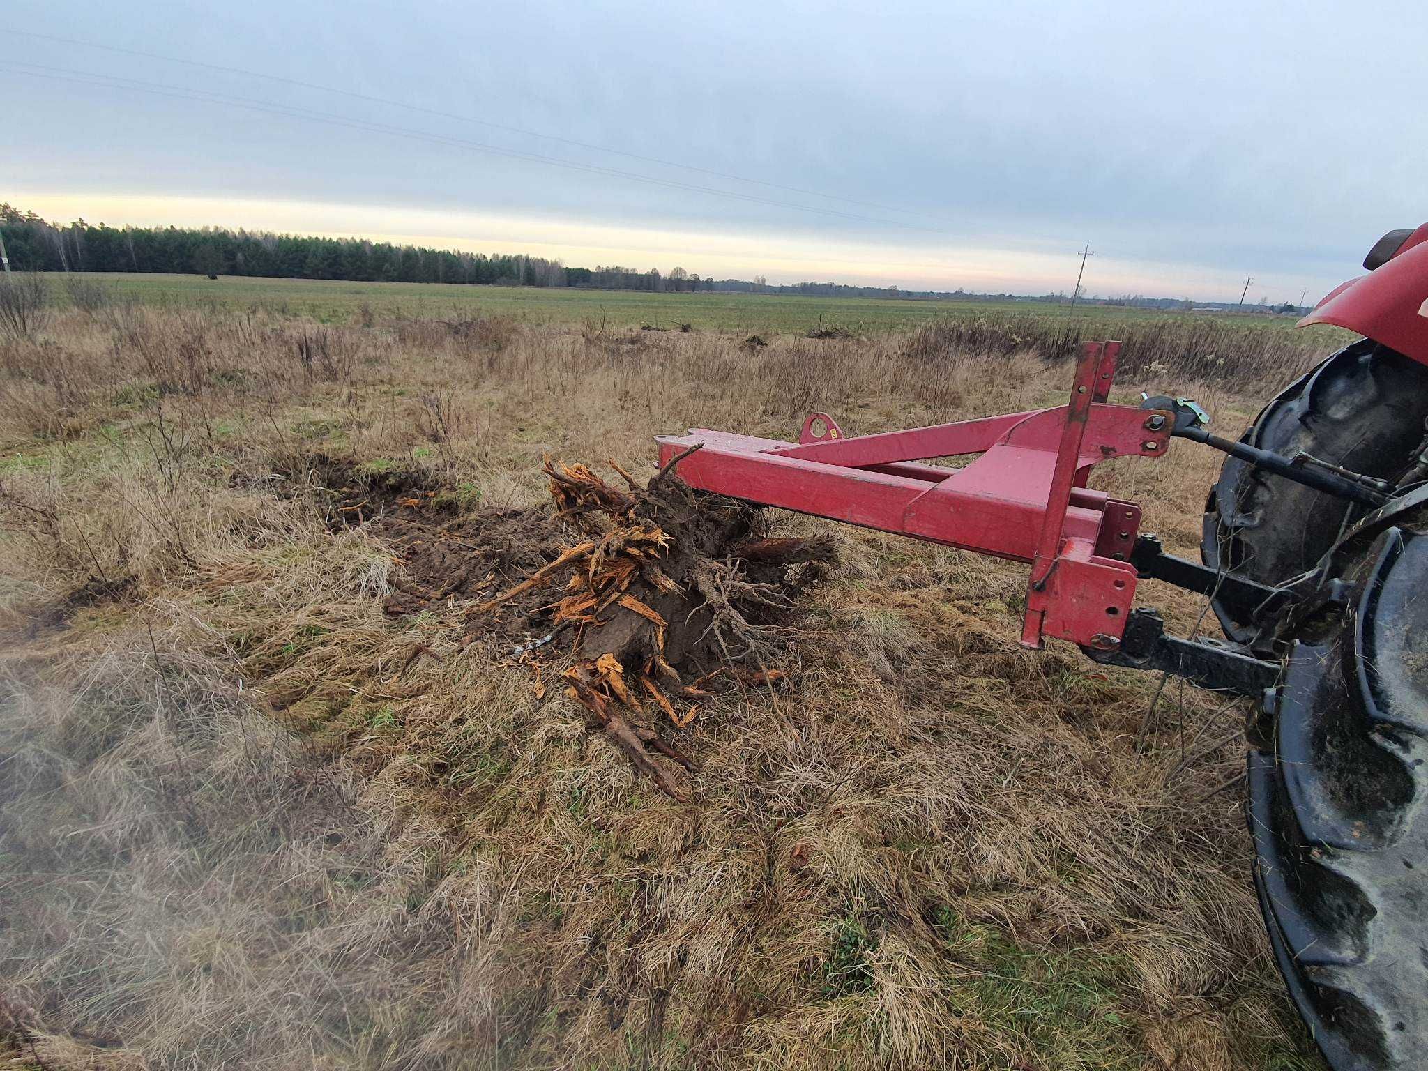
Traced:
<path fill-rule="evenodd" d="M 1120 343 L 1088 344 L 1054 408 L 797 443 L 660 437 L 694 488 L 1027 563 L 1021 643 L 1254 700 L 1254 884 L 1291 1000 L 1335 1071 L 1428 1067 L 1428 224 L 1385 234 L 1299 321 L 1362 338 L 1230 440 L 1190 398 L 1108 401 Z M 1227 454 L 1201 561 L 1141 534 L 1092 466 Z M 960 467 L 928 464 L 974 456 Z M 1224 638 L 1134 604 L 1154 578 L 1205 595 Z"/>

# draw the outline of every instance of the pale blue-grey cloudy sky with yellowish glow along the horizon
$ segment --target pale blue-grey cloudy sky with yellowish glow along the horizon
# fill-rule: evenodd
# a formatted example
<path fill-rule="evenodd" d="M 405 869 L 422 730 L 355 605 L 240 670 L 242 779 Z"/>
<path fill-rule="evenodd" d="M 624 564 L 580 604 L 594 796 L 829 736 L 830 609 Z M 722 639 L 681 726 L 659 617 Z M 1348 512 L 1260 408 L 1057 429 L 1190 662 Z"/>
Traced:
<path fill-rule="evenodd" d="M 1428 220 L 1421 0 L 4 9 L 0 201 L 60 221 L 1298 303 Z"/>

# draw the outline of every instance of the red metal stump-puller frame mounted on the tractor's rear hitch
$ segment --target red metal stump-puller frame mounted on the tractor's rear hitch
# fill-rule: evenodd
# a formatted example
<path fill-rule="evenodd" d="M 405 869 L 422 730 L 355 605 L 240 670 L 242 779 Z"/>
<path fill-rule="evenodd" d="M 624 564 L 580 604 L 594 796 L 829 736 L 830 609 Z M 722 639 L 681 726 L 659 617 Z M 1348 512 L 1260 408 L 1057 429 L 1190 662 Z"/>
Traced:
<path fill-rule="evenodd" d="M 848 438 L 825 413 L 797 443 L 698 428 L 661 436 L 660 466 L 691 487 L 867 528 L 1027 561 L 1021 643 L 1112 648 L 1135 595 L 1124 560 L 1141 511 L 1087 490 L 1091 466 L 1160 457 L 1174 414 L 1111 406 L 1120 343 L 1090 343 L 1055 408 Z M 962 454 L 961 468 L 920 464 Z"/>

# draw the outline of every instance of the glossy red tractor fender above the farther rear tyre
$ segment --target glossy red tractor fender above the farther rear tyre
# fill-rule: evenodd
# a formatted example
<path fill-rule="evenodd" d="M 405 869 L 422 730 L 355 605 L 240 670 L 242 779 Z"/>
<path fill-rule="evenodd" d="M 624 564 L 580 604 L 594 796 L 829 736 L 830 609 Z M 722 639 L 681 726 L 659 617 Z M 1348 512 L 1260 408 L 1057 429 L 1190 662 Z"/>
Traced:
<path fill-rule="evenodd" d="M 1388 261 L 1329 291 L 1299 320 L 1308 324 L 1345 327 L 1428 364 L 1428 223 Z"/>

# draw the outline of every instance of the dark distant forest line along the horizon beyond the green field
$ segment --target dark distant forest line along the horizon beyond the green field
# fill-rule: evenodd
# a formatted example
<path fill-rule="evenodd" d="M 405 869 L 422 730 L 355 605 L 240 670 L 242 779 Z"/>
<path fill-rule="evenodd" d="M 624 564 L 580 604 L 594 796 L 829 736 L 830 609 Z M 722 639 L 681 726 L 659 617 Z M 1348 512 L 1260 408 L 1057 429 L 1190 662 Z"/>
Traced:
<path fill-rule="evenodd" d="M 805 294 L 824 297 L 952 298 L 962 301 L 1048 301 L 1065 294 L 1021 297 L 974 294 L 964 290 L 928 291 L 861 287 L 843 283 L 768 284 L 763 276 L 701 278 L 681 267 L 657 268 L 565 267 L 560 260 L 520 253 L 486 254 L 424 246 L 393 246 L 366 238 L 321 238 L 220 227 L 110 227 L 76 220 L 49 223 L 33 211 L 0 204 L 0 238 L 10 266 L 39 271 L 154 271 L 160 274 L 258 276 L 266 278 L 334 278 L 377 283 L 461 283 L 487 286 L 578 287 L 588 290 L 725 291 Z M 1145 308 L 1188 306 L 1177 298 L 1087 298 L 1094 304 L 1132 304 Z"/>

